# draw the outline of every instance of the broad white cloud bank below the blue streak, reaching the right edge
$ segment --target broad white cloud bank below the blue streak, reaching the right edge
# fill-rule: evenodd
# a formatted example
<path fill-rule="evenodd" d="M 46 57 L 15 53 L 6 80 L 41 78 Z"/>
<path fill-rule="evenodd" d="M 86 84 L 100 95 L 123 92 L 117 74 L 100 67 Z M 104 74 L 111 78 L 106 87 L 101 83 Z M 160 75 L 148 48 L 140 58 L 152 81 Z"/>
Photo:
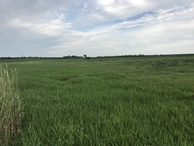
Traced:
<path fill-rule="evenodd" d="M 89 55 L 94 56 L 103 53 L 104 55 L 192 53 L 193 8 L 174 7 L 158 10 L 155 14 L 145 15 L 137 20 L 102 26 L 76 35 L 87 39 L 58 46 L 52 53 L 65 54 L 71 52 L 69 48 L 78 48 L 72 51 L 77 55 L 82 55 L 81 52 L 85 48 Z"/>

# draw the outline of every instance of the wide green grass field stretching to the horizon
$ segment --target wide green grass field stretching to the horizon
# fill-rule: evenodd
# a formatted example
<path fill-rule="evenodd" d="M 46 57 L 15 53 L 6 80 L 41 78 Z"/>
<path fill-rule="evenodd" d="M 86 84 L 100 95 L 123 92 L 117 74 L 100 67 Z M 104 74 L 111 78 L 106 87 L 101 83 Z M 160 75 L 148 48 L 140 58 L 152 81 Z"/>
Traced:
<path fill-rule="evenodd" d="M 194 55 L 4 62 L 24 106 L 14 146 L 194 145 Z"/>

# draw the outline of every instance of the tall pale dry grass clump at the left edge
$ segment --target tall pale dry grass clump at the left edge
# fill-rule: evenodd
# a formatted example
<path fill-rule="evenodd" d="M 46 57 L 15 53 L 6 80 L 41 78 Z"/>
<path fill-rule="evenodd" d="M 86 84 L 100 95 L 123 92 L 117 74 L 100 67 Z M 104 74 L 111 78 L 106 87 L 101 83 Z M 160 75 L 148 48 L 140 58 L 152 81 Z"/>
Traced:
<path fill-rule="evenodd" d="M 17 71 L 0 65 L 0 146 L 10 145 L 17 136 L 21 116 Z"/>

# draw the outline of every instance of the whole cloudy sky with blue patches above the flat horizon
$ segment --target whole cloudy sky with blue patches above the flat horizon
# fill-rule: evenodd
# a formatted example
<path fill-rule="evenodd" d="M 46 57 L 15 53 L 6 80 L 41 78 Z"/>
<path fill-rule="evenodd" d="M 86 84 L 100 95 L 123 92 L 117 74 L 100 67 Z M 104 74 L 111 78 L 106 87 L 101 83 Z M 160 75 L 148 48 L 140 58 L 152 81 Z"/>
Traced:
<path fill-rule="evenodd" d="M 188 53 L 193 0 L 0 0 L 0 57 Z"/>

